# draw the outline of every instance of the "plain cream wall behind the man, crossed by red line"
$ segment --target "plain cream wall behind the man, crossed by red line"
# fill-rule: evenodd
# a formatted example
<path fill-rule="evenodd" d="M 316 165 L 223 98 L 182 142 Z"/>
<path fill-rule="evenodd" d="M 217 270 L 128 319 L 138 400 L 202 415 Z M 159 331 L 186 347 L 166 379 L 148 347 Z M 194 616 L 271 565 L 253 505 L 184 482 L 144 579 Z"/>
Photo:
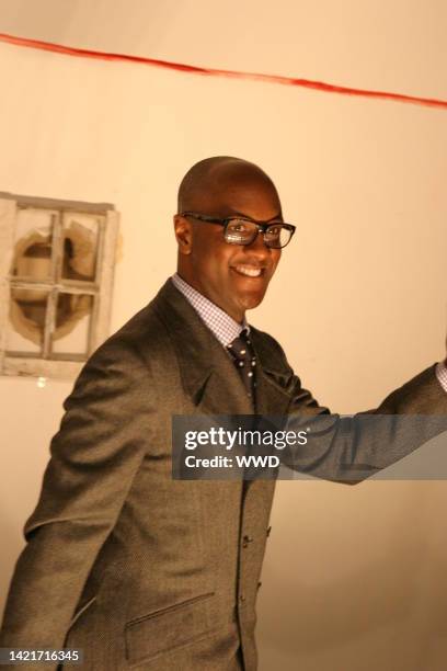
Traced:
<path fill-rule="evenodd" d="M 443 0 L 1 0 L 0 32 L 447 99 Z M 444 356 L 442 110 L 0 45 L 0 191 L 122 213 L 113 329 L 174 271 L 195 161 L 259 162 L 298 225 L 251 321 L 334 411 L 376 406 Z M 3 600 L 71 384 L 0 379 Z M 280 482 L 261 671 L 445 668 L 445 482 Z M 440 514 L 439 514 L 440 511 Z"/>

